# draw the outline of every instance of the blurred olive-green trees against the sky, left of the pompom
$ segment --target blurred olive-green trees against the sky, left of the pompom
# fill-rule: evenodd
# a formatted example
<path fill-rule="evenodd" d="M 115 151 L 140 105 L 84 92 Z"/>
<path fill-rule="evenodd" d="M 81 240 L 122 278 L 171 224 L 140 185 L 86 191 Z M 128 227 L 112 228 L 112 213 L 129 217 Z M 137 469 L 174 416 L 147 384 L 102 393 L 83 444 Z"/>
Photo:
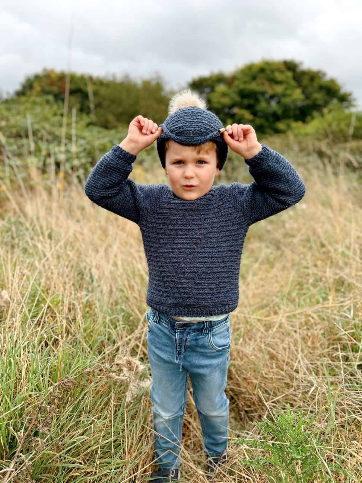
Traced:
<path fill-rule="evenodd" d="M 67 73 L 53 69 L 26 77 L 14 95 L 52 95 L 61 103 L 65 99 Z M 161 124 L 167 117 L 170 92 L 167 92 L 162 77 L 133 80 L 128 74 L 117 79 L 93 77 L 70 72 L 69 111 L 90 114 L 92 123 L 102 128 L 113 129 L 129 125 L 138 114 Z"/>

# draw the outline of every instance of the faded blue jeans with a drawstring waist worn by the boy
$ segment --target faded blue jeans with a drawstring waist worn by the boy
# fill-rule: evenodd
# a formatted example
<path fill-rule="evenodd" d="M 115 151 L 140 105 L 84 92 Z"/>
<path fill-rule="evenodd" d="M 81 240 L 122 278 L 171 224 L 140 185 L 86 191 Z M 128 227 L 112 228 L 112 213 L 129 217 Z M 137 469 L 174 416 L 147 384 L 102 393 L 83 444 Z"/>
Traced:
<path fill-rule="evenodd" d="M 230 360 L 230 314 L 222 320 L 190 323 L 151 307 L 146 318 L 158 466 L 178 468 L 181 464 L 179 453 L 189 374 L 203 450 L 208 456 L 223 454 L 229 421 L 225 387 Z"/>

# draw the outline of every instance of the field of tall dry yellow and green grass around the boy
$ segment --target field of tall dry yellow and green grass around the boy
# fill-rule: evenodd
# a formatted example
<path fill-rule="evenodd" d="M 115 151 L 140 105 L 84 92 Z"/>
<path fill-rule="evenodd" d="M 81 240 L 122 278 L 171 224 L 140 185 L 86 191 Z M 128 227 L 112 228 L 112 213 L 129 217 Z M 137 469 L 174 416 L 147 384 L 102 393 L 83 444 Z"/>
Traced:
<path fill-rule="evenodd" d="M 267 144 L 306 195 L 246 237 L 231 313 L 230 458 L 214 481 L 361 482 L 359 171 Z M 136 160 L 131 177 L 167 183 L 154 166 Z M 215 183 L 252 181 L 242 158 L 224 171 Z M 0 479 L 145 481 L 157 465 L 139 227 L 54 171 L 44 181 L 32 167 L 17 181 L 0 186 Z M 181 457 L 181 481 L 207 481 L 190 380 Z"/>

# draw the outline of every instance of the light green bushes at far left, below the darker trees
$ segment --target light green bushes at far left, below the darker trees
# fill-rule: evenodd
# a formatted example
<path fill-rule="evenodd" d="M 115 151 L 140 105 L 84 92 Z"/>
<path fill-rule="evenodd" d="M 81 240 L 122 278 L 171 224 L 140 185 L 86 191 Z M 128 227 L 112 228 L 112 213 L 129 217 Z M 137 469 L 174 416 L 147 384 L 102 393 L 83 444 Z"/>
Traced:
<path fill-rule="evenodd" d="M 121 142 L 128 125 L 116 129 L 94 126 L 87 114 L 76 112 L 67 116 L 64 150 L 62 148 L 63 105 L 51 95 L 20 96 L 0 102 L 0 178 L 6 183 L 22 178 L 35 164 L 46 179 L 54 165 L 57 174 L 64 160 L 64 177 L 87 177 L 97 160 Z M 13 167 L 13 168 L 12 168 Z M 10 178 L 10 179 L 9 179 Z"/>

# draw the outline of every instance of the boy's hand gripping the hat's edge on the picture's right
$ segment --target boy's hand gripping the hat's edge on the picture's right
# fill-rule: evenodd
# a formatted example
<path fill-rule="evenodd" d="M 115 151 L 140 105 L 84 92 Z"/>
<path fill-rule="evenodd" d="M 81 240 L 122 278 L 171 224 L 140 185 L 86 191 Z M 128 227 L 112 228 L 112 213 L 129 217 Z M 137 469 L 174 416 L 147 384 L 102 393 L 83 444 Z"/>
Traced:
<path fill-rule="evenodd" d="M 233 124 L 226 126 L 223 131 L 226 144 L 244 159 L 250 159 L 262 150 L 258 142 L 255 130 L 250 124 Z"/>

